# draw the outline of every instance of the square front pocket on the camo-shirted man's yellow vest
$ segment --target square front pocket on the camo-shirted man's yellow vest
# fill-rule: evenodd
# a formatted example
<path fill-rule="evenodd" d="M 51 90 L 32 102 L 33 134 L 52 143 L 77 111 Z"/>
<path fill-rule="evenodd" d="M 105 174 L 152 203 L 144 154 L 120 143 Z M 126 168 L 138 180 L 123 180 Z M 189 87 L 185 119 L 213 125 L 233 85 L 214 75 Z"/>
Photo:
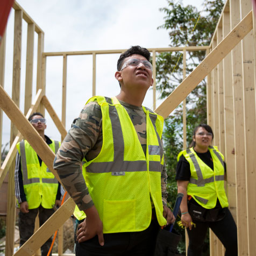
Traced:
<path fill-rule="evenodd" d="M 104 200 L 103 232 L 135 231 L 136 199 L 125 201 Z"/>

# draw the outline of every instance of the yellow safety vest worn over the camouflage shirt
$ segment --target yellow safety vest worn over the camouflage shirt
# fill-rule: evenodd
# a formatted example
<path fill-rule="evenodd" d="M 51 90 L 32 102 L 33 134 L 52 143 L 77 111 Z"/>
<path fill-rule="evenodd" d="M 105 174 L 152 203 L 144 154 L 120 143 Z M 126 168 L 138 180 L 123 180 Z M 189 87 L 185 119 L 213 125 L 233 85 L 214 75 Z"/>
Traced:
<path fill-rule="evenodd" d="M 113 97 L 109 104 L 105 97 L 95 96 L 88 102 L 94 99 L 101 106 L 103 144 L 98 156 L 84 163 L 83 176 L 103 222 L 103 233 L 145 230 L 152 218 L 151 198 L 159 225 L 166 225 L 161 193 L 163 118 L 143 107 L 145 157 L 129 114 L 118 99 Z M 86 217 L 77 206 L 74 215 L 79 220 Z"/>

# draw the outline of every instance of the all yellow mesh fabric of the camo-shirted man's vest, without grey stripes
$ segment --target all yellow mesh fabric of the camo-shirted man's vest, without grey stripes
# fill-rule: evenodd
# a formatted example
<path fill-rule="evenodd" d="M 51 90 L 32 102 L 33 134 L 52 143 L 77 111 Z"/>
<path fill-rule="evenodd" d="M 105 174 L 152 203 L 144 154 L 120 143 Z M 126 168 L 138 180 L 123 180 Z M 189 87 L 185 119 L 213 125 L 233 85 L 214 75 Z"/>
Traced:
<path fill-rule="evenodd" d="M 94 100 L 92 98 L 91 100 Z M 103 147 L 98 157 L 86 163 L 93 165 L 94 162 L 113 161 L 113 138 L 112 126 L 109 118 L 109 104 L 104 97 L 97 97 L 101 104 L 103 113 Z M 130 120 L 130 117 L 116 98 L 113 99 L 118 112 L 124 139 L 124 160 L 125 161 L 146 161 L 143 148 Z M 144 109 L 145 110 L 145 109 Z M 154 127 L 147 112 L 147 145 L 159 145 Z M 157 122 L 157 130 L 161 130 L 161 119 Z M 148 128 L 149 127 L 149 128 Z M 147 170 L 149 160 L 160 162 L 159 155 L 148 155 L 147 147 Z M 85 170 L 85 169 L 84 169 Z M 115 170 L 116 172 L 116 170 Z M 132 232 L 145 230 L 151 222 L 152 207 L 150 196 L 153 198 L 157 217 L 160 225 L 166 221 L 162 217 L 161 198 L 161 173 L 148 171 L 125 172 L 123 176 L 112 176 L 109 173 L 88 173 L 84 172 L 89 193 L 103 221 L 103 233 Z M 97 193 L 96 193 L 97 191 Z M 98 192 L 99 191 L 99 192 Z M 84 216 L 79 214 L 77 216 Z M 82 217 L 81 217 L 82 218 Z"/>

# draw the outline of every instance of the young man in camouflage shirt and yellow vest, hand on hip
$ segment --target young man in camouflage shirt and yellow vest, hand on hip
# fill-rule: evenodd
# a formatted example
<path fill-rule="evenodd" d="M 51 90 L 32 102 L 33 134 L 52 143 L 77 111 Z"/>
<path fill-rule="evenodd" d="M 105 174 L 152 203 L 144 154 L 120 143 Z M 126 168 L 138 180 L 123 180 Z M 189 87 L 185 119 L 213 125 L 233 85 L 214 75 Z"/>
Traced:
<path fill-rule="evenodd" d="M 149 60 L 140 46 L 120 55 L 120 93 L 91 98 L 56 154 L 54 169 L 79 208 L 76 255 L 153 255 L 160 226 L 174 222 L 163 119 L 142 106 L 153 84 Z"/>

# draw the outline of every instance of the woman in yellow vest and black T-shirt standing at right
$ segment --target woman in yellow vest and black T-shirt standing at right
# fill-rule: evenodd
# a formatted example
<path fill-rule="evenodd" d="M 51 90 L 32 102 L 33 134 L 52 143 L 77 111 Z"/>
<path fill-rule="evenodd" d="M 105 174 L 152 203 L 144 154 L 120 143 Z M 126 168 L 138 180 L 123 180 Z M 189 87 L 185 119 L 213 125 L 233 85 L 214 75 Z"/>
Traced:
<path fill-rule="evenodd" d="M 201 255 L 208 227 L 226 248 L 225 256 L 237 255 L 237 227 L 224 189 L 224 157 L 211 146 L 213 138 L 209 125 L 198 125 L 190 148 L 177 157 L 177 190 L 184 194 L 180 209 L 188 231 L 188 256 Z"/>

